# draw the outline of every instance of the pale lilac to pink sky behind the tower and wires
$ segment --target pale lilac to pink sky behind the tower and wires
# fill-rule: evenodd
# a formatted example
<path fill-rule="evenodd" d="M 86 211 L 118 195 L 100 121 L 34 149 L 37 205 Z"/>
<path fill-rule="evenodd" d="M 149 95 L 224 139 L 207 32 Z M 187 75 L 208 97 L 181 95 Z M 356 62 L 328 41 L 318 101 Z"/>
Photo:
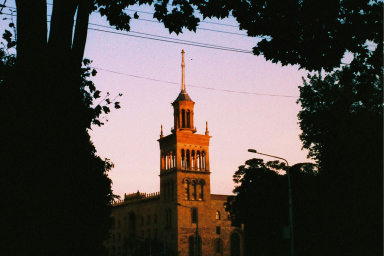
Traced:
<path fill-rule="evenodd" d="M 6 6 L 15 7 L 14 0 L 6 1 Z M 109 92 L 114 98 L 122 93 L 116 99 L 121 108 L 111 109 L 102 119 L 104 125 L 89 130 L 97 154 L 115 165 L 109 172 L 115 194 L 159 191 L 157 139 L 160 125 L 164 136 L 173 126 L 170 103 L 180 92 L 182 49 L 186 91 L 195 102 L 194 125 L 203 134 L 207 121 L 212 136 L 211 193 L 232 194 L 232 175 L 245 160 L 275 160 L 247 152 L 248 148 L 285 158 L 290 165 L 313 162 L 306 158 L 307 150 L 301 149 L 300 105 L 296 103 L 301 77 L 308 71 L 248 53 L 261 38 L 247 37 L 233 18 L 205 19 L 196 32 L 183 30 L 176 36 L 155 22 L 152 7 L 132 6 L 127 13 L 135 11 L 139 19 L 131 20 L 130 32 L 90 24 L 84 53 L 97 70 L 92 81 L 100 95 Z M 9 7 L 3 12 L 9 13 Z M 108 26 L 99 13 L 92 13 L 89 22 Z M 1 20 L 2 31 L 9 30 L 8 23 Z M 178 43 L 152 35 L 175 38 Z M 206 47 L 196 46 L 197 42 Z M 95 104 L 99 101 L 94 100 Z"/>

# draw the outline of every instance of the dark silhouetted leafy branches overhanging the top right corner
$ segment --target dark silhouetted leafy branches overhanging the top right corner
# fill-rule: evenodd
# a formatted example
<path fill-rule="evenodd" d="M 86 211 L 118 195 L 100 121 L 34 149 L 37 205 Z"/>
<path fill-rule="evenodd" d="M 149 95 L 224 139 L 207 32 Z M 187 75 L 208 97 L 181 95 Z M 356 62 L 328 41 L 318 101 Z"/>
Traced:
<path fill-rule="evenodd" d="M 345 51 L 354 54 L 354 61 L 372 55 L 377 63 L 382 63 L 381 0 L 191 2 L 204 18 L 231 14 L 248 36 L 262 36 L 253 53 L 274 63 L 331 71 L 339 67 Z M 369 52 L 370 44 L 377 44 L 373 54 Z"/>

